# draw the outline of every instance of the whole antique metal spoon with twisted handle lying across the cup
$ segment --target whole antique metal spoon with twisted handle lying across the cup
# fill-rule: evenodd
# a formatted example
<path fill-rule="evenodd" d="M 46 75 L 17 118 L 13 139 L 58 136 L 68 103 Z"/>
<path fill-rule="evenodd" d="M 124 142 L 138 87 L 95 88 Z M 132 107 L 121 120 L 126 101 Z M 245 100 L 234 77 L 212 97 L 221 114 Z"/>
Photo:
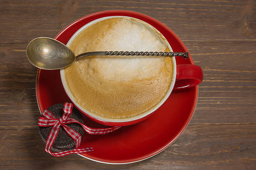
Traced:
<path fill-rule="evenodd" d="M 145 55 L 145 56 L 182 56 L 188 58 L 188 52 L 128 52 L 128 51 L 95 51 L 85 52 L 77 56 L 63 43 L 47 37 L 38 37 L 28 43 L 27 57 L 32 65 L 56 70 L 71 65 L 75 60 L 94 55 Z"/>

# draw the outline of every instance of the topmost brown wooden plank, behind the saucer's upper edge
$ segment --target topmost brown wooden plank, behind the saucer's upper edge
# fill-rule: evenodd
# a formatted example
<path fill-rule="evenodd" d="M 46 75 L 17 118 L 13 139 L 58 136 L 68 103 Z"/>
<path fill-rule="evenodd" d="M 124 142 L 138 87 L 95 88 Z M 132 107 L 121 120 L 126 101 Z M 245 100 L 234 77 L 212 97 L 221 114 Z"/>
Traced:
<path fill-rule="evenodd" d="M 184 41 L 256 41 L 253 0 L 2 0 L 0 43 L 28 43 L 35 37 L 54 37 L 82 16 L 110 9 L 133 10 L 156 18 Z"/>

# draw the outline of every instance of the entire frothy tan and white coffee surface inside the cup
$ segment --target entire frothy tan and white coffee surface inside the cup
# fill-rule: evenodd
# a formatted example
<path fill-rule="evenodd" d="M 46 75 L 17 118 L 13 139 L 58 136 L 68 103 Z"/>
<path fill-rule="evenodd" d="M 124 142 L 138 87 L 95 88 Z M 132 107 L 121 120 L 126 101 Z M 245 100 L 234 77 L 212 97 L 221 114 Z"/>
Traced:
<path fill-rule="evenodd" d="M 128 18 L 100 20 L 69 44 L 75 55 L 90 51 L 167 51 L 164 38 L 146 23 Z M 173 77 L 172 57 L 92 56 L 64 69 L 76 102 L 100 117 L 123 119 L 154 107 Z"/>

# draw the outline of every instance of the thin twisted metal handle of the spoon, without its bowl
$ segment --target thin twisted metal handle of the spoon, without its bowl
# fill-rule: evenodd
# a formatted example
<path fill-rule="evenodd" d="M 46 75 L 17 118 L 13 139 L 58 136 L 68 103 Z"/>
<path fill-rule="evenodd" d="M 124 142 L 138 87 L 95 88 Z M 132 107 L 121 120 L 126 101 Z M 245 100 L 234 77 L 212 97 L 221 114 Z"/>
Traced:
<path fill-rule="evenodd" d="M 94 52 L 85 52 L 76 56 L 76 60 L 79 60 L 83 57 L 93 56 L 93 55 L 144 55 L 144 56 L 165 56 L 165 57 L 174 57 L 182 56 L 185 59 L 189 57 L 188 52 L 133 52 L 133 51 L 94 51 Z"/>

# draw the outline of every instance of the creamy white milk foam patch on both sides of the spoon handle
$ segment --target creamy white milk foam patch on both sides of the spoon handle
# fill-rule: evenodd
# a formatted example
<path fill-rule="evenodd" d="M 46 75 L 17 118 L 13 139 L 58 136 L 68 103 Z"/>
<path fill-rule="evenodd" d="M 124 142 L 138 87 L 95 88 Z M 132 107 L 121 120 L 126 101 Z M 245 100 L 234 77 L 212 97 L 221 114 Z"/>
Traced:
<path fill-rule="evenodd" d="M 102 50 L 165 51 L 166 43 L 153 30 L 133 20 L 121 20 L 103 32 L 94 44 Z M 143 79 L 158 75 L 163 66 L 162 57 L 99 57 L 98 73 L 108 80 Z M 84 69 L 80 66 L 81 69 Z"/>

